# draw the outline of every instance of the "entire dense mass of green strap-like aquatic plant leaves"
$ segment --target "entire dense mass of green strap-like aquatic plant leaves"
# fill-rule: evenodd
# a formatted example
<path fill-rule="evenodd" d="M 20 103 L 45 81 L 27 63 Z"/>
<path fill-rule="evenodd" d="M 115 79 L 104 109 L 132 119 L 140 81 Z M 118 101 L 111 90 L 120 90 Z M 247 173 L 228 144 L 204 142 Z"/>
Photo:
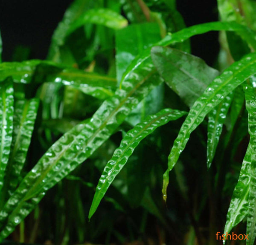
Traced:
<path fill-rule="evenodd" d="M 35 242 L 44 219 L 38 203 L 46 196 L 42 202 L 54 199 L 57 206 L 55 244 L 97 242 L 100 236 L 106 244 L 112 236 L 124 242 L 123 231 L 113 228 L 118 212 L 130 239 L 136 230 L 146 243 L 148 214 L 155 237 L 169 244 L 214 244 L 217 231 L 229 233 L 246 218 L 247 244 L 253 245 L 256 6 L 218 0 L 218 10 L 220 22 L 185 28 L 174 0 L 75 0 L 52 36 L 46 61 L 0 63 L 1 241 L 15 231 L 20 242 Z M 221 32 L 218 69 L 190 54 L 189 38 L 209 31 Z M 244 149 L 240 166 L 237 153 Z M 163 200 L 172 197 L 167 205 L 173 211 L 161 202 L 162 179 Z M 86 195 L 81 188 L 89 190 Z M 185 214 L 177 207 L 181 202 Z M 34 209 L 36 225 L 26 238 L 29 222 L 23 220 Z M 143 210 L 140 221 L 134 210 Z M 207 211 L 205 233 L 200 228 Z M 223 213 L 225 228 L 218 218 Z M 172 224 L 179 219 L 184 225 L 177 231 Z"/>

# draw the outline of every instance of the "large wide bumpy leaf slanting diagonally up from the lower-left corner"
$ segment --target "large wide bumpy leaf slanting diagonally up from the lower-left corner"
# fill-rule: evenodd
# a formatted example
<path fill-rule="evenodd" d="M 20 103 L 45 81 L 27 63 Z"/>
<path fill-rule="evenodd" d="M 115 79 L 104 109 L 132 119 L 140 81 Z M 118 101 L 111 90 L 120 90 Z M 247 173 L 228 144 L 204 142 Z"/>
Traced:
<path fill-rule="evenodd" d="M 90 119 L 64 134 L 25 176 L 0 212 L 0 239 L 4 239 L 44 196 L 44 191 L 59 182 L 86 160 L 125 117 L 162 80 L 152 61 L 137 66 Z"/>

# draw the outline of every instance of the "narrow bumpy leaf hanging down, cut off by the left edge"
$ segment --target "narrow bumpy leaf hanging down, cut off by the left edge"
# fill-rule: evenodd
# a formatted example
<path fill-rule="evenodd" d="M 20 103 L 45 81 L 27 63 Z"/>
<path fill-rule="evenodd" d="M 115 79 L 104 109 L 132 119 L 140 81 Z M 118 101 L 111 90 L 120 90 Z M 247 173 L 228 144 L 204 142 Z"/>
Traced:
<path fill-rule="evenodd" d="M 12 79 L 8 78 L 0 82 L 0 191 L 12 143 L 13 103 Z"/>

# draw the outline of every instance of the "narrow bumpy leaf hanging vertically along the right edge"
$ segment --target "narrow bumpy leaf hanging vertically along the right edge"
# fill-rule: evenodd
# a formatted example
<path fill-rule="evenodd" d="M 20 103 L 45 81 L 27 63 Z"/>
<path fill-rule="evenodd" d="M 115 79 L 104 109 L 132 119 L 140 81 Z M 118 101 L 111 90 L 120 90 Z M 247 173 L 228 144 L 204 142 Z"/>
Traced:
<path fill-rule="evenodd" d="M 255 85 L 255 84 L 254 84 Z M 248 111 L 248 132 L 250 142 L 246 154 L 250 154 L 250 182 L 248 197 L 247 230 L 249 234 L 247 245 L 253 245 L 256 237 L 256 91 L 251 84 L 244 86 L 246 109 Z M 246 166 L 248 167 L 248 166 Z M 237 212 L 237 211 L 236 211 Z"/>

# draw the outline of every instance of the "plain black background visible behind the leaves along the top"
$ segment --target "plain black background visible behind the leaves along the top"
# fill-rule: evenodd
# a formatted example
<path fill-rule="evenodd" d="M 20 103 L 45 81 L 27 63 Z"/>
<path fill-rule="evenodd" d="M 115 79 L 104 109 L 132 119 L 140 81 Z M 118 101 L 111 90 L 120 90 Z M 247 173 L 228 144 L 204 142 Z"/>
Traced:
<path fill-rule="evenodd" d="M 29 58 L 44 59 L 51 36 L 73 0 L 0 0 L 0 31 L 3 60 L 11 61 L 15 46 L 31 48 Z M 187 26 L 218 20 L 216 0 L 177 0 Z M 192 38 L 192 53 L 208 64 L 218 53 L 218 33 Z"/>

